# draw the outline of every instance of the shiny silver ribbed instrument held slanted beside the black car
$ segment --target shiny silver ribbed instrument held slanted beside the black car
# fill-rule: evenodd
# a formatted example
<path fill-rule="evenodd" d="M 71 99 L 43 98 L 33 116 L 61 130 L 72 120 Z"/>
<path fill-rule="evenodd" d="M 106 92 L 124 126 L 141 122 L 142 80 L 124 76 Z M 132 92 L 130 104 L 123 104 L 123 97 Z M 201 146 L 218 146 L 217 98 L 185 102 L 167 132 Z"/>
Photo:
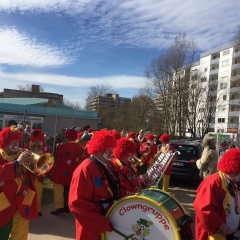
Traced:
<path fill-rule="evenodd" d="M 166 151 L 158 157 L 158 159 L 153 163 L 153 165 L 147 170 L 144 180 L 142 182 L 143 188 L 158 186 L 158 183 L 162 179 L 162 175 L 166 171 L 167 167 L 171 163 L 175 154 L 178 152 Z"/>

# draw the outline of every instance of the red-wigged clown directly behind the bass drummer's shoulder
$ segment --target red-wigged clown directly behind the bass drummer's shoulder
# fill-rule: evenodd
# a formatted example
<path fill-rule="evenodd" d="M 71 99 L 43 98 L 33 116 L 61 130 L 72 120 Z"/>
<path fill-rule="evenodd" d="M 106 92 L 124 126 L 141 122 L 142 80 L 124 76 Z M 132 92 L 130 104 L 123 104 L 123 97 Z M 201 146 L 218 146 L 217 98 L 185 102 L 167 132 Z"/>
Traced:
<path fill-rule="evenodd" d="M 134 170 L 131 165 L 133 155 L 136 153 L 135 143 L 128 138 L 121 138 L 113 150 L 111 163 L 114 171 L 119 173 L 121 184 L 121 197 L 129 193 L 136 193 L 140 188 L 139 171 Z M 135 168 L 136 169 L 136 168 Z"/>

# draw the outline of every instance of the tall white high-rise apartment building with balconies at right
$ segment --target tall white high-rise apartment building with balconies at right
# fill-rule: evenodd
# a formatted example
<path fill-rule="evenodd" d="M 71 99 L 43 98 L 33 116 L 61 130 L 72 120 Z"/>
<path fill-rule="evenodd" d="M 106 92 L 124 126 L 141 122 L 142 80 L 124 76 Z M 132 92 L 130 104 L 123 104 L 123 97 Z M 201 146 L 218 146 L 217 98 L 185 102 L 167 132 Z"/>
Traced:
<path fill-rule="evenodd" d="M 240 43 L 202 53 L 193 69 L 202 73 L 203 90 L 209 90 L 215 111 L 210 131 L 235 138 L 240 127 Z"/>

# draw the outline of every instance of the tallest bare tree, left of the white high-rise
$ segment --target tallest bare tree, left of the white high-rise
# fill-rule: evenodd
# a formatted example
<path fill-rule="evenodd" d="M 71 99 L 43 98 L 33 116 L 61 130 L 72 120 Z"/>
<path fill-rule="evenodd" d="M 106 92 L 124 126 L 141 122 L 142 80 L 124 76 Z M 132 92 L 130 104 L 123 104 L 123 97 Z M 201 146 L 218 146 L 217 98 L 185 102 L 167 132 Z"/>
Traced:
<path fill-rule="evenodd" d="M 165 130 L 172 136 L 178 132 L 180 138 L 186 131 L 190 69 L 196 54 L 196 44 L 187 40 L 185 33 L 180 33 L 145 71 L 148 84 L 161 98 Z"/>

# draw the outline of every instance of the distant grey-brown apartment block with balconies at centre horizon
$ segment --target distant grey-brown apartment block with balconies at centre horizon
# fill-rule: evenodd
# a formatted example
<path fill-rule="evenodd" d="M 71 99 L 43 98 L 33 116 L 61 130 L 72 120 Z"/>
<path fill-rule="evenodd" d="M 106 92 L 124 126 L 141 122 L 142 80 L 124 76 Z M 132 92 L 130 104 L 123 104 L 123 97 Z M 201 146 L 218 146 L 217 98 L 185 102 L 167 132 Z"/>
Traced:
<path fill-rule="evenodd" d="M 109 107 L 117 110 L 124 104 L 131 102 L 131 98 L 119 97 L 119 94 L 105 94 L 105 96 L 96 96 L 91 99 L 89 104 L 89 110 L 98 111 L 99 107 Z"/>

